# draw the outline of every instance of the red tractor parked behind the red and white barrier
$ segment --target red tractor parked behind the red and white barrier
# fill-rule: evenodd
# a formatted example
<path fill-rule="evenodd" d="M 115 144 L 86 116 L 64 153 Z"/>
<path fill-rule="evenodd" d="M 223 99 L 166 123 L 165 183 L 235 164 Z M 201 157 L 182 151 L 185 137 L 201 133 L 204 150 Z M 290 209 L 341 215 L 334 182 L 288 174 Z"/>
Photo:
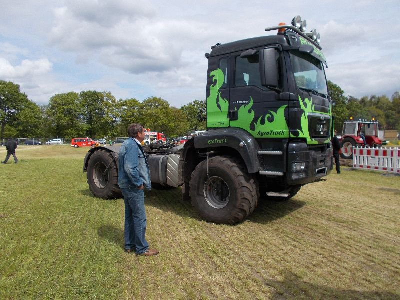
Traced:
<path fill-rule="evenodd" d="M 353 147 L 382 147 L 379 123 L 375 120 L 345 121 L 341 135 L 341 157 L 353 158 Z"/>

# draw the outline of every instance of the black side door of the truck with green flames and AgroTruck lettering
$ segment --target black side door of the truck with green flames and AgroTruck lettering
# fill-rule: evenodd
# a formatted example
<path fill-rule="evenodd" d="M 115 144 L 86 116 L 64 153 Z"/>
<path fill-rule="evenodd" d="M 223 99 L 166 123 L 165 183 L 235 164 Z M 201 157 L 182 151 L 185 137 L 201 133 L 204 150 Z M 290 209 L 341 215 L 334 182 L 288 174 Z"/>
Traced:
<path fill-rule="evenodd" d="M 287 137 L 284 104 L 276 91 L 261 85 L 259 54 L 255 49 L 235 53 L 229 93 L 229 125 L 254 137 Z"/>

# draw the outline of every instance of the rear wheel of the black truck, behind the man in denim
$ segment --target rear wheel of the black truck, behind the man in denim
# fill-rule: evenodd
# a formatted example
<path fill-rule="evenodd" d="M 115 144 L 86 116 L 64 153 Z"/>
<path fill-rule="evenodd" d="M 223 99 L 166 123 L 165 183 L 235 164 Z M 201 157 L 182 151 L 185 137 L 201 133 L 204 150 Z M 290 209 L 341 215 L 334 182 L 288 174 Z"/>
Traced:
<path fill-rule="evenodd" d="M 121 197 L 121 190 L 118 186 L 118 168 L 111 153 L 97 150 L 90 156 L 87 165 L 87 183 L 92 193 L 98 198 Z"/>

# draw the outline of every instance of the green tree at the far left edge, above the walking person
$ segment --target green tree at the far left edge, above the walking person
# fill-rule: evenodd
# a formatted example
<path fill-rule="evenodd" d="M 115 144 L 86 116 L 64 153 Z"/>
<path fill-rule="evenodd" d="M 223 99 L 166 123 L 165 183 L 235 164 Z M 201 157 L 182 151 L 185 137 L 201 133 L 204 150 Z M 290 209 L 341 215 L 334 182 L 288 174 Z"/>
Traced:
<path fill-rule="evenodd" d="M 5 125 L 12 125 L 16 113 L 22 109 L 26 100 L 27 96 L 20 91 L 18 84 L 0 80 L 1 138 L 4 138 Z"/>

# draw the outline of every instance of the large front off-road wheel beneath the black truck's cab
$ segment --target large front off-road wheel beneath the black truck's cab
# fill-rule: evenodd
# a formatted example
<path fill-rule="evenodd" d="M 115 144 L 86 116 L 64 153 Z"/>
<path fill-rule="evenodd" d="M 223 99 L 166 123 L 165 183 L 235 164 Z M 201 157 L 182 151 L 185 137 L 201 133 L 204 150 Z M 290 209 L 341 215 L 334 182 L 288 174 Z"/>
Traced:
<path fill-rule="evenodd" d="M 257 185 L 233 157 L 216 156 L 199 163 L 190 179 L 191 203 L 201 217 L 213 223 L 244 220 L 258 204 Z"/>

